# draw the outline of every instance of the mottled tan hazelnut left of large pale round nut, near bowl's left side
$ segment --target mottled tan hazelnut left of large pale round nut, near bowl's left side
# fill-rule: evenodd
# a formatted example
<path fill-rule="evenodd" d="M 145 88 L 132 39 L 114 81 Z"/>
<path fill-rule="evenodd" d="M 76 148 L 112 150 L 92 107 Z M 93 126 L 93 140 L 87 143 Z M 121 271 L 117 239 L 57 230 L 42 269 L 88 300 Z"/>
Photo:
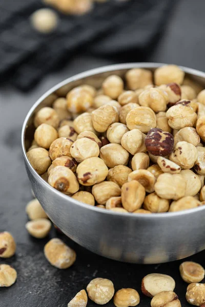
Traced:
<path fill-rule="evenodd" d="M 55 160 L 56 158 L 63 156 L 70 156 L 70 148 L 73 145 L 73 140 L 69 138 L 59 138 L 53 141 L 49 149 L 49 155 L 51 160 Z"/>

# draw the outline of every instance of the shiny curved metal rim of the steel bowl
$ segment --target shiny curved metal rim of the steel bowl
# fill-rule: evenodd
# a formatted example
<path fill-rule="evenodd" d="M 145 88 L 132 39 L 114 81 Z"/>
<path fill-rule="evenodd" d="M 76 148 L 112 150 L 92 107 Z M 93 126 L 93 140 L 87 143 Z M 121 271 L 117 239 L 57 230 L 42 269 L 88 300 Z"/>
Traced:
<path fill-rule="evenodd" d="M 69 77 L 59 83 L 57 83 L 56 85 L 54 85 L 50 90 L 48 90 L 45 94 L 43 94 L 39 99 L 37 99 L 37 101 L 32 105 L 32 107 L 29 109 L 26 118 L 24 120 L 23 123 L 23 127 L 22 127 L 22 134 L 21 134 L 21 145 L 22 145 L 22 152 L 23 152 L 23 157 L 24 160 L 27 164 L 27 166 L 29 167 L 29 170 L 32 172 L 32 174 L 36 177 L 36 180 L 39 180 L 47 189 L 50 189 L 53 193 L 55 193 L 56 195 L 59 195 L 61 198 L 65 199 L 66 201 L 70 201 L 72 203 L 74 203 L 75 205 L 81 206 L 83 208 L 86 208 L 87 210 L 93 210 L 96 212 L 101 212 L 102 214 L 111 214 L 111 215 L 118 215 L 118 216 L 129 216 L 129 218 L 146 218 L 146 219 L 150 219 L 150 218 L 163 218 L 163 217 L 167 217 L 167 218 L 172 218 L 172 217 L 176 217 L 176 216 L 181 216 L 181 215 L 187 215 L 187 214 L 194 214 L 198 211 L 202 211 L 205 209 L 205 206 L 200 206 L 197 208 L 193 208 L 193 209 L 189 209 L 189 210 L 182 210 L 182 211 L 176 211 L 176 212 L 161 212 L 161 213 L 152 213 L 152 214 L 141 214 L 141 213 L 134 213 L 134 214 L 130 214 L 130 212 L 126 212 L 126 213 L 119 213 L 119 212 L 114 212 L 112 210 L 104 210 L 101 208 L 98 208 L 96 206 L 91 206 L 82 202 L 79 202 L 75 199 L 72 199 L 70 196 L 61 193 L 60 191 L 54 189 L 52 186 L 49 185 L 49 183 L 47 183 L 42 177 L 40 177 L 40 175 L 34 170 L 34 168 L 32 167 L 31 163 L 28 160 L 27 157 L 27 153 L 26 153 L 26 148 L 25 148 L 25 134 L 26 134 L 26 129 L 27 129 L 27 123 L 30 120 L 33 112 L 35 111 L 35 108 L 45 99 L 47 98 L 49 95 L 53 94 L 56 90 L 58 90 L 61 86 L 64 86 L 70 82 L 73 81 L 77 81 L 79 79 L 83 79 L 86 77 L 91 77 L 100 73 L 106 73 L 106 72 L 112 72 L 112 71 L 116 71 L 116 70 L 128 70 L 128 69 L 133 69 L 133 68 L 142 68 L 142 69 L 153 69 L 153 68 L 158 68 L 161 67 L 162 65 L 167 65 L 167 63 L 156 63 L 156 62 L 134 62 L 134 63 L 122 63 L 122 64 L 113 64 L 113 65 L 106 65 L 103 67 L 99 67 L 99 68 L 95 68 L 95 69 L 91 69 L 79 74 L 76 74 L 72 77 Z M 199 71 L 199 70 L 195 70 L 195 69 L 191 69 L 188 67 L 183 67 L 178 65 L 178 67 L 183 70 L 185 73 L 188 74 L 192 74 L 198 77 L 202 77 L 205 79 L 205 73 Z M 69 199 L 68 199 L 69 198 Z"/>

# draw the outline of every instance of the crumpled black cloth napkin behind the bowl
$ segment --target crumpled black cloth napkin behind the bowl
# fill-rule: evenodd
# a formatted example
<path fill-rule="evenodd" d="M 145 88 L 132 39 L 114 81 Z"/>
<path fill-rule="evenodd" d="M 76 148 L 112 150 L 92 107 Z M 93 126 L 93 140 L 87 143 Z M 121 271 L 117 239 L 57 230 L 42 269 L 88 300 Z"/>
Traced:
<path fill-rule="evenodd" d="M 0 1 L 0 82 L 28 91 L 46 74 L 63 67 L 76 52 L 146 60 L 169 19 L 174 0 L 111 0 L 83 16 L 58 13 L 51 34 L 36 32 L 30 15 L 40 0 Z"/>

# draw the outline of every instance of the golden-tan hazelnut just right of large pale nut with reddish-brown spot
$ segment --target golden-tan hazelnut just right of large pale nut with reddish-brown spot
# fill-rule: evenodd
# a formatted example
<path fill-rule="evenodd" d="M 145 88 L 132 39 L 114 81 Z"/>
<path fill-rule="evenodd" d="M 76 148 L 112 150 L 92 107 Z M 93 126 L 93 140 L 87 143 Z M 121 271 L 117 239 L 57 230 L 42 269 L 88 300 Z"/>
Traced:
<path fill-rule="evenodd" d="M 116 165 L 108 171 L 107 181 L 113 181 L 121 187 L 128 181 L 128 175 L 132 169 L 125 165 Z"/>

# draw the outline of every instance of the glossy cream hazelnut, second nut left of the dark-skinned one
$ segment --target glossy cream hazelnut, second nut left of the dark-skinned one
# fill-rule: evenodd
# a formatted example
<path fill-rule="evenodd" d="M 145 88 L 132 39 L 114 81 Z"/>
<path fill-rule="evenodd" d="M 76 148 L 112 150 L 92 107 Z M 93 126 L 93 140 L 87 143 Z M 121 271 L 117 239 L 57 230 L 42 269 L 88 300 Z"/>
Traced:
<path fill-rule="evenodd" d="M 128 132 L 129 129 L 126 125 L 121 123 L 113 123 L 108 127 L 107 138 L 110 143 L 121 144 L 121 138 Z"/>

